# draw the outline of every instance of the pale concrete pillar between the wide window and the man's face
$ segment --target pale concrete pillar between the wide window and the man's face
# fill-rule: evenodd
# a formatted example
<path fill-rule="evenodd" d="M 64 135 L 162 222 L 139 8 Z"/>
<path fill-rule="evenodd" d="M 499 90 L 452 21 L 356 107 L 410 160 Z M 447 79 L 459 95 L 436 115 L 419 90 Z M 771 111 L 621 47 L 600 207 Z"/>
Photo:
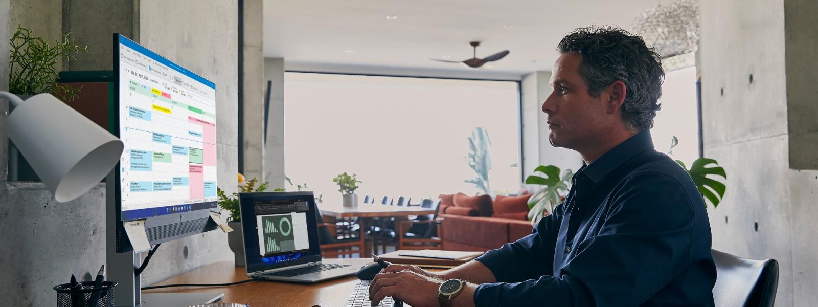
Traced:
<path fill-rule="evenodd" d="M 551 93 L 548 82 L 550 71 L 536 71 L 523 77 L 523 174 L 533 174 L 539 165 L 555 165 L 560 169 L 577 171 L 582 157 L 577 151 L 551 146 L 548 142 L 548 115 L 542 111 L 542 102 Z M 537 156 L 532 156 L 537 155 Z"/>

